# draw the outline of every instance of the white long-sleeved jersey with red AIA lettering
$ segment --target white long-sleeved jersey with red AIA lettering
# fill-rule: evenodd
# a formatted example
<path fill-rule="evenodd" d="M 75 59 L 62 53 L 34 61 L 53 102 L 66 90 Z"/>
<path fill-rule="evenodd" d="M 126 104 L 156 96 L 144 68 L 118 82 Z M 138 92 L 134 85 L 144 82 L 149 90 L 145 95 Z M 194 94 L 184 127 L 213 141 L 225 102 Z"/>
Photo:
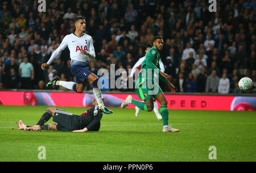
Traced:
<path fill-rule="evenodd" d="M 59 47 L 52 53 L 47 64 L 51 64 L 56 58 L 59 58 L 61 51 L 68 47 L 71 60 L 89 62 L 89 56 L 95 58 L 95 50 L 93 47 L 93 39 L 84 33 L 81 37 L 77 37 L 75 33 L 66 35 Z M 89 56 L 81 54 L 81 50 L 89 52 Z"/>

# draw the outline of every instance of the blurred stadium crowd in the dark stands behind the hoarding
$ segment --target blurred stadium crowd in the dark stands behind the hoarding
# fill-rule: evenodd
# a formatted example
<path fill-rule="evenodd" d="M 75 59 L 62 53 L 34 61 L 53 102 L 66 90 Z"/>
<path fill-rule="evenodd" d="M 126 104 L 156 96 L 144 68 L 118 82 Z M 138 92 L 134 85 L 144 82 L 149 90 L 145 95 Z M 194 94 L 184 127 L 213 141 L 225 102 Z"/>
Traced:
<path fill-rule="evenodd" d="M 110 64 L 128 72 L 160 35 L 165 73 L 179 92 L 241 92 L 239 79 L 256 82 L 255 3 L 221 0 L 217 12 L 210 12 L 209 5 L 203 0 L 55 0 L 47 1 L 46 12 L 38 12 L 37 0 L 0 0 L 0 88 L 46 89 L 55 75 L 74 81 L 68 48 L 47 70 L 40 66 L 74 32 L 73 19 L 81 15 L 94 40 L 94 74 L 110 70 Z"/>

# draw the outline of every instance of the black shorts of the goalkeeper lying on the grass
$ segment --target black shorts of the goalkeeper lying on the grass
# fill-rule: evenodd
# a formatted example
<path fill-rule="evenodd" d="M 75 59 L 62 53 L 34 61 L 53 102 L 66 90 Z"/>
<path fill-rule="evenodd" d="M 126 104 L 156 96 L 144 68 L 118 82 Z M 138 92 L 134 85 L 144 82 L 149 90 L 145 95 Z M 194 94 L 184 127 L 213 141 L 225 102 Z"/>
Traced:
<path fill-rule="evenodd" d="M 73 113 L 56 109 L 53 115 L 53 121 L 57 123 L 57 130 L 70 132 L 73 130 L 82 129 L 81 116 L 74 115 Z"/>

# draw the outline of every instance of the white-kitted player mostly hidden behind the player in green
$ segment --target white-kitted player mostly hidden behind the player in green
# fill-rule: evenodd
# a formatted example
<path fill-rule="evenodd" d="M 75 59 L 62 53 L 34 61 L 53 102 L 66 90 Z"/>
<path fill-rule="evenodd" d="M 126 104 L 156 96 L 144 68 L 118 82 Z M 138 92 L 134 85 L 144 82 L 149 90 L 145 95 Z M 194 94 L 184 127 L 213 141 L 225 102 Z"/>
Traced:
<path fill-rule="evenodd" d="M 151 48 L 152 46 L 151 45 L 147 45 L 147 48 L 146 48 L 146 50 L 145 50 L 145 53 L 147 53 L 147 51 Z M 128 76 L 128 78 L 132 78 L 133 77 L 133 75 L 134 75 L 134 73 L 135 73 L 135 71 L 138 69 L 138 70 L 140 70 L 140 67 L 141 67 L 141 64 L 142 64 L 142 62 L 145 60 L 145 57 L 146 56 L 144 56 L 144 57 L 142 57 L 142 58 L 139 58 L 139 60 L 136 62 L 136 64 L 133 66 L 133 69 L 131 69 L 131 73 L 130 73 L 130 75 Z M 163 65 L 163 62 L 162 62 L 162 60 L 160 59 L 160 61 L 159 61 L 159 66 L 160 66 L 160 70 L 162 71 L 162 72 L 164 72 L 164 65 Z M 155 81 L 159 81 L 158 80 L 158 75 L 155 75 Z M 156 100 L 154 99 L 153 100 L 154 101 L 154 112 L 155 112 L 155 116 L 156 116 L 156 118 L 158 119 L 158 120 L 162 120 L 162 116 L 160 115 L 160 113 L 159 113 L 159 111 L 158 111 L 158 103 L 156 103 Z M 141 109 L 140 108 L 138 108 L 137 106 L 135 107 L 135 116 L 136 117 L 139 117 L 139 111 L 140 111 Z"/>

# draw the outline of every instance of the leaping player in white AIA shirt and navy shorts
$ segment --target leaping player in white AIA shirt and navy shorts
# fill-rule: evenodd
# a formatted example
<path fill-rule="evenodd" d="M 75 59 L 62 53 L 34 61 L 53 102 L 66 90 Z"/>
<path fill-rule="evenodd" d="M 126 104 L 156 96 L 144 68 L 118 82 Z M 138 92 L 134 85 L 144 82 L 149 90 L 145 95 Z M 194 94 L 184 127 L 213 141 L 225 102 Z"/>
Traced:
<path fill-rule="evenodd" d="M 93 94 L 96 97 L 100 110 L 106 114 L 113 113 L 113 111 L 110 111 L 104 106 L 101 90 L 97 84 L 97 75 L 88 70 L 89 57 L 95 58 L 96 55 L 92 37 L 84 33 L 86 26 L 85 19 L 82 16 L 75 18 L 74 26 L 76 28 L 75 32 L 64 37 L 59 47 L 52 53 L 48 62 L 42 64 L 41 68 L 43 70 L 46 69 L 56 58 L 59 58 L 61 51 L 68 47 L 71 58 L 71 73 L 76 77 L 76 83 L 60 81 L 60 78 L 56 76 L 52 81 L 47 83 L 47 87 L 59 85 L 81 93 L 84 91 L 86 82 L 92 82 Z"/>

